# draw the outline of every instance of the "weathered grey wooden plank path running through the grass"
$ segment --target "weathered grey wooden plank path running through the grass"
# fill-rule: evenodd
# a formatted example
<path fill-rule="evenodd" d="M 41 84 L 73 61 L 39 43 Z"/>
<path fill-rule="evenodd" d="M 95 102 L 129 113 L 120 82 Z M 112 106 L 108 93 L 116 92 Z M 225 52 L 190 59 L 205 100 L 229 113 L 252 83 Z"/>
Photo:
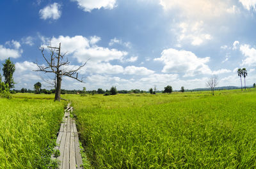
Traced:
<path fill-rule="evenodd" d="M 60 160 L 60 169 L 83 168 L 76 121 L 70 117 L 72 110 L 73 108 L 68 103 L 56 140 L 55 149 L 60 151 L 60 156 L 57 158 Z"/>

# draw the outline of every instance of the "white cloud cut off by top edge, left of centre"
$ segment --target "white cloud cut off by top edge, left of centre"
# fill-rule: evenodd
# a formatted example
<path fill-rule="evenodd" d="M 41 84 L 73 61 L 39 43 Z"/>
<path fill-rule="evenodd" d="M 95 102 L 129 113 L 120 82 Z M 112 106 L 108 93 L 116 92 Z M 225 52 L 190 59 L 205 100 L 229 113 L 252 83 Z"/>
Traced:
<path fill-rule="evenodd" d="M 71 0 L 76 1 L 79 8 L 82 8 L 84 11 L 92 11 L 93 9 L 113 9 L 116 7 L 116 0 Z"/>

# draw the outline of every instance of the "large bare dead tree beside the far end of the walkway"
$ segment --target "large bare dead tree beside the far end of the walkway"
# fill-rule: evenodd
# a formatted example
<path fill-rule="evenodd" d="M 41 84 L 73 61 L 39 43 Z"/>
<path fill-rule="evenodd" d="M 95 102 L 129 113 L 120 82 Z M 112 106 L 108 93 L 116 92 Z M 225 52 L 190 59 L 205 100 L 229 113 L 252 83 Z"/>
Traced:
<path fill-rule="evenodd" d="M 73 70 L 67 70 L 67 67 L 69 66 L 70 62 L 68 61 L 68 58 L 65 57 L 65 54 L 61 54 L 61 43 L 59 47 L 51 47 L 48 46 L 50 50 L 50 58 L 45 57 L 45 48 L 42 47 L 40 48 L 42 52 L 42 56 L 44 57 L 44 60 L 46 61 L 47 65 L 39 65 L 38 63 L 35 62 L 36 66 L 38 66 L 38 70 L 35 71 L 43 71 L 44 73 L 54 73 L 55 74 L 55 80 L 54 80 L 54 85 L 55 85 L 55 98 L 54 101 L 58 100 L 60 101 L 60 94 L 61 94 L 61 81 L 62 77 L 70 77 L 74 78 L 79 82 L 83 82 L 83 77 L 81 79 L 78 78 L 78 73 L 77 71 L 81 70 L 83 66 L 86 64 L 86 62 L 82 65 L 79 66 L 78 68 L 74 68 Z M 65 68 L 66 66 L 66 68 Z"/>

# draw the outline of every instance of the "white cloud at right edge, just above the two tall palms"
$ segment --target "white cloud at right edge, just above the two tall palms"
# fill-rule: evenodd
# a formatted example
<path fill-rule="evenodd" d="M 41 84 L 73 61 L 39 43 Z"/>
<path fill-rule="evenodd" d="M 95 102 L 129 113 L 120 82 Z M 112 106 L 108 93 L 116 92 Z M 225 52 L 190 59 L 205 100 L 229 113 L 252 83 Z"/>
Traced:
<path fill-rule="evenodd" d="M 240 46 L 240 51 L 246 57 L 241 66 L 255 66 L 256 65 L 256 49 L 251 48 L 250 45 L 241 45 Z"/>

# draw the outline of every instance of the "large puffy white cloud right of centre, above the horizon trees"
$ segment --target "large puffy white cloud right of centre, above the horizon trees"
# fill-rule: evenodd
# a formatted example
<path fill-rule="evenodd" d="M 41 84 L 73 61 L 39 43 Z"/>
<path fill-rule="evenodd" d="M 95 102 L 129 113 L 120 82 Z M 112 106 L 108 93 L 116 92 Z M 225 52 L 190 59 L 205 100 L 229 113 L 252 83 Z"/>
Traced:
<path fill-rule="evenodd" d="M 186 50 L 169 48 L 163 50 L 161 57 L 154 61 L 161 61 L 164 64 L 163 73 L 185 73 L 184 77 L 193 77 L 197 74 L 211 74 L 207 62 L 210 57 L 200 58 Z"/>

